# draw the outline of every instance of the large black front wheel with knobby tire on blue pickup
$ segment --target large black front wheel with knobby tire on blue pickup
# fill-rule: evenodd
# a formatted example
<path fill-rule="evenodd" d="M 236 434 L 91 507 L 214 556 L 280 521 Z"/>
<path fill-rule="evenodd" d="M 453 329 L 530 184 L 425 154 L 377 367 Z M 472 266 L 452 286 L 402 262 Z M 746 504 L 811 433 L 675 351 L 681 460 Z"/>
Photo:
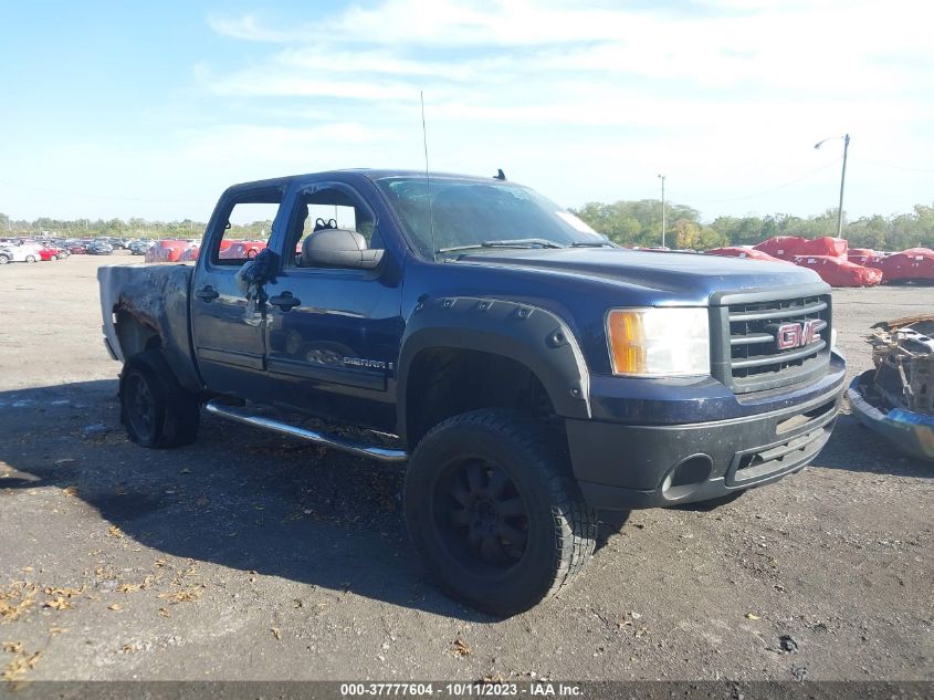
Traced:
<path fill-rule="evenodd" d="M 409 534 L 451 597 L 499 616 L 557 593 L 584 566 L 597 515 L 562 449 L 505 409 L 474 410 L 433 428 L 405 484 Z"/>

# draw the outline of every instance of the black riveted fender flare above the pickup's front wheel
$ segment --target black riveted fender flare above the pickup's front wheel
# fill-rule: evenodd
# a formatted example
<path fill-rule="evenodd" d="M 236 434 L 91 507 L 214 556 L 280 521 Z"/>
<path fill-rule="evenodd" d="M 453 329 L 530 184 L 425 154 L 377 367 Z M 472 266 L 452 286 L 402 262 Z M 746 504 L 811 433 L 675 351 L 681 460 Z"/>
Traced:
<path fill-rule="evenodd" d="M 447 296 L 420 301 L 406 324 L 396 394 L 402 436 L 407 435 L 412 363 L 431 348 L 478 351 L 514 359 L 538 378 L 559 416 L 591 416 L 590 375 L 584 354 L 557 315 L 521 302 Z"/>

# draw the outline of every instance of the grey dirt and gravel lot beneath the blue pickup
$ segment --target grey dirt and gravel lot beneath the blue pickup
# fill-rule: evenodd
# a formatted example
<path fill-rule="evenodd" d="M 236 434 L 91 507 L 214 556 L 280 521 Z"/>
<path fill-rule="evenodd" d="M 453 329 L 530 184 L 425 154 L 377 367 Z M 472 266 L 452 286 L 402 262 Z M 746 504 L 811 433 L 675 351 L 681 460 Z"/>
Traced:
<path fill-rule="evenodd" d="M 607 516 L 568 593 L 499 621 L 426 579 L 399 468 L 208 417 L 190 448 L 129 443 L 95 280 L 115 258 L 0 268 L 8 678 L 934 679 L 934 466 L 849 416 L 778 484 Z M 934 309 L 835 296 L 857 372 L 873 322 Z"/>

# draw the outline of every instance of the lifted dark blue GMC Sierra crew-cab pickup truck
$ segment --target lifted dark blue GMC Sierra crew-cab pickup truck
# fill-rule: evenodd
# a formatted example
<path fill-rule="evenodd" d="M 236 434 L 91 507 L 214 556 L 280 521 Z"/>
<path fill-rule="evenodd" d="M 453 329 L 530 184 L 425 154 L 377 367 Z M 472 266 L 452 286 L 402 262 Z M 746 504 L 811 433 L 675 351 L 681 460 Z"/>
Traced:
<path fill-rule="evenodd" d="M 258 226 L 259 255 L 228 254 Z M 580 571 L 598 509 L 724 499 L 800 470 L 843 389 L 814 272 L 620 249 L 502 174 L 237 185 L 193 265 L 98 280 L 132 440 L 190 443 L 203 407 L 407 462 L 426 568 L 496 615 Z"/>

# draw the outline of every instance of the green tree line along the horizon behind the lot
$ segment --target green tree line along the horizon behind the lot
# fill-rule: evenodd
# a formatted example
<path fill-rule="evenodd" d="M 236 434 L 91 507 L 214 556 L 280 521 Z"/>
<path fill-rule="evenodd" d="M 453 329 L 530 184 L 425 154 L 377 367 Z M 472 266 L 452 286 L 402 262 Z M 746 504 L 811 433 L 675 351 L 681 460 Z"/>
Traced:
<path fill-rule="evenodd" d="M 661 244 L 661 202 L 658 199 L 620 200 L 612 203 L 588 202 L 574 213 L 591 228 L 621 245 Z M 717 217 L 701 221 L 701 212 L 684 205 L 665 202 L 665 244 L 670 248 L 709 250 L 723 245 L 754 245 L 773 236 L 820 238 L 837 234 L 837 210 L 801 218 L 787 213 L 766 217 Z M 265 238 L 270 221 L 255 221 L 237 227 L 237 238 Z M 148 221 L 123 219 L 51 219 L 12 220 L 0 213 L 0 237 L 53 236 L 60 238 L 200 238 L 206 228 L 201 221 Z M 915 205 L 911 213 L 890 217 L 874 215 L 854 221 L 843 219 L 843 238 L 851 248 L 904 250 L 934 248 L 934 206 Z"/>

